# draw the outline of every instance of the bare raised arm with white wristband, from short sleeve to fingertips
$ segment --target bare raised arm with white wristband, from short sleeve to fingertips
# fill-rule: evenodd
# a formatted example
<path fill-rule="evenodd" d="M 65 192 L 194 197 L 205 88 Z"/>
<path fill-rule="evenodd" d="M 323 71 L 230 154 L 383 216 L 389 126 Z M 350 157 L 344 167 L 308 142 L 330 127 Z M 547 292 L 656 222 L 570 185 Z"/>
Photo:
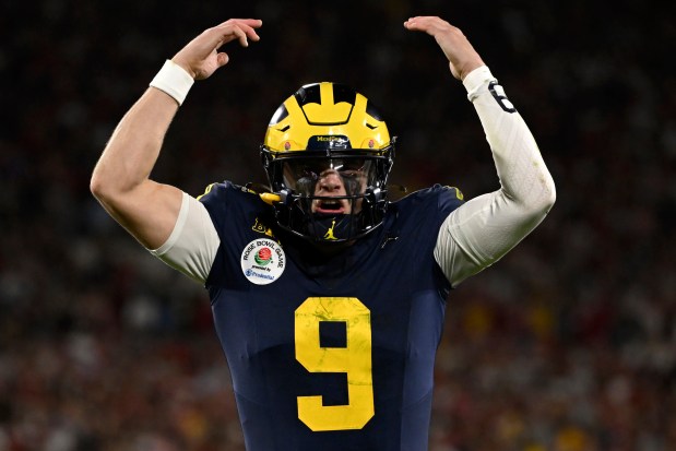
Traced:
<path fill-rule="evenodd" d="M 182 192 L 151 180 L 164 137 L 194 80 L 211 76 L 229 58 L 221 46 L 259 40 L 260 20 L 232 19 L 204 31 L 165 67 L 127 111 L 106 145 L 91 190 L 106 211 L 143 246 L 155 249 L 169 237 Z"/>

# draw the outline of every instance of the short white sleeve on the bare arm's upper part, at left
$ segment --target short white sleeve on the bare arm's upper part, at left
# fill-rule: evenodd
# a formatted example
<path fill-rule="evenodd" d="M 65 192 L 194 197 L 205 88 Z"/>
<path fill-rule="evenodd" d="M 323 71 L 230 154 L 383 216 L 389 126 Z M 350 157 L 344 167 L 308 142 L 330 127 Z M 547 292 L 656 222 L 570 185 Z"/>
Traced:
<path fill-rule="evenodd" d="M 171 235 L 150 252 L 169 266 L 204 283 L 216 257 L 221 239 L 202 202 L 183 192 Z"/>

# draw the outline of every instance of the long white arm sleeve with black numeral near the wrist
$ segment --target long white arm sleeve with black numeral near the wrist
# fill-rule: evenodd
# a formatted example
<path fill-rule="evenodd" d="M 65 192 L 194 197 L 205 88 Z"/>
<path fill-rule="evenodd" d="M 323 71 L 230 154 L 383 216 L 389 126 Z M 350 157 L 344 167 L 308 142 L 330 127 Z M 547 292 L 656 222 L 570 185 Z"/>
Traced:
<path fill-rule="evenodd" d="M 554 180 L 525 122 L 487 67 L 463 81 L 493 152 L 500 189 L 454 210 L 441 225 L 435 259 L 452 286 L 505 256 L 546 216 Z"/>

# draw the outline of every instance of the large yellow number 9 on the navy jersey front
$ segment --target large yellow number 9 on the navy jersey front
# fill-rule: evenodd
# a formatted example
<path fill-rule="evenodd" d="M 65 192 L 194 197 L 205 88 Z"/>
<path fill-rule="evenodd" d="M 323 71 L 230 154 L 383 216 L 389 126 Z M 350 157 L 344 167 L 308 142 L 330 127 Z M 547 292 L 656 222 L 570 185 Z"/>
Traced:
<path fill-rule="evenodd" d="M 346 324 L 345 347 L 322 347 L 319 323 Z M 354 297 L 310 297 L 296 309 L 296 359 L 310 372 L 345 372 L 346 405 L 323 405 L 321 395 L 298 396 L 298 418 L 310 429 L 361 429 L 373 416 L 371 316 Z"/>

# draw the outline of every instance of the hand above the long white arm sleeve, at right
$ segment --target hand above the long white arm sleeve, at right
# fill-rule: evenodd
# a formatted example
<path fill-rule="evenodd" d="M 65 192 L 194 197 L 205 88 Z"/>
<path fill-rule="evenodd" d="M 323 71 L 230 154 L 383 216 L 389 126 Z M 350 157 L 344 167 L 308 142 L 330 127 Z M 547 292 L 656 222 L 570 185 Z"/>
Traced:
<path fill-rule="evenodd" d="M 406 29 L 425 32 L 434 36 L 449 60 L 451 73 L 458 80 L 464 80 L 474 69 L 484 66 L 484 61 L 460 28 L 443 19 L 435 16 L 411 17 L 404 22 L 404 26 Z"/>

